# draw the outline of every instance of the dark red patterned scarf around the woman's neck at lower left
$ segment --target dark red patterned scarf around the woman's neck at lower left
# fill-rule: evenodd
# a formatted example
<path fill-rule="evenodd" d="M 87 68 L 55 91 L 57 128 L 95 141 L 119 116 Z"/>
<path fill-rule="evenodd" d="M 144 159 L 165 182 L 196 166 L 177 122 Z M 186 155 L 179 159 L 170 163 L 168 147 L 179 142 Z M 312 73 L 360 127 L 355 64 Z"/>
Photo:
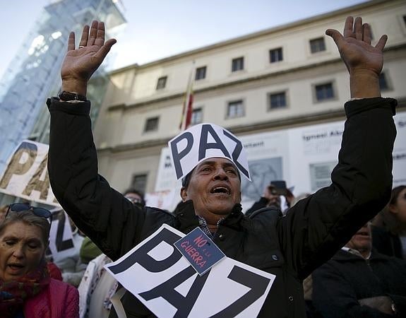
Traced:
<path fill-rule="evenodd" d="M 37 269 L 30 271 L 16 281 L 4 282 L 0 279 L 1 317 L 14 317 L 23 310 L 25 300 L 38 295 L 49 284 L 47 263 L 42 261 Z"/>

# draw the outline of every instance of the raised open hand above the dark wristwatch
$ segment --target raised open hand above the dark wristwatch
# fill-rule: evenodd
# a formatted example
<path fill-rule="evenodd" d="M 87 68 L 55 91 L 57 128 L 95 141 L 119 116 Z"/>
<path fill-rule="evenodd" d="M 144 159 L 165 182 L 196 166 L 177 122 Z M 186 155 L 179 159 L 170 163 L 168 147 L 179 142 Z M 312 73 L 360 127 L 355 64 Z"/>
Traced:
<path fill-rule="evenodd" d="M 102 22 L 93 21 L 90 28 L 84 26 L 77 49 L 75 33 L 71 32 L 61 68 L 62 90 L 86 95 L 90 76 L 102 64 L 114 43 L 114 39 L 105 42 L 105 24 Z"/>

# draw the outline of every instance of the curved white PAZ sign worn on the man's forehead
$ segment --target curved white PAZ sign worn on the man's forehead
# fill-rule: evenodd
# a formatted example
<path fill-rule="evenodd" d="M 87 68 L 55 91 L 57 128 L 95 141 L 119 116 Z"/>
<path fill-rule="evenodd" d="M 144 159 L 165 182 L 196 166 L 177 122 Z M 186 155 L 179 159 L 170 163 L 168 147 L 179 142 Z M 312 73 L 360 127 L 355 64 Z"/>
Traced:
<path fill-rule="evenodd" d="M 203 160 L 220 157 L 231 160 L 239 172 L 251 180 L 246 152 L 241 141 L 220 126 L 192 126 L 170 140 L 168 146 L 177 179 L 185 177 Z"/>

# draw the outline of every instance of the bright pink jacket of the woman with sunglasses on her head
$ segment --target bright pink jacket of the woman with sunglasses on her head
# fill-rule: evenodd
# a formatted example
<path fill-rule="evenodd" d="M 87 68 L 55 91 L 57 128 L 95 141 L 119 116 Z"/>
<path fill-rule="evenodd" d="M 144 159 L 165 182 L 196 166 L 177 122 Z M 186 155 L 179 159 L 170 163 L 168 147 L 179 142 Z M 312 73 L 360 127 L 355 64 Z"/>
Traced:
<path fill-rule="evenodd" d="M 25 302 L 24 317 L 78 318 L 78 290 L 68 283 L 51 278 L 47 289 Z"/>

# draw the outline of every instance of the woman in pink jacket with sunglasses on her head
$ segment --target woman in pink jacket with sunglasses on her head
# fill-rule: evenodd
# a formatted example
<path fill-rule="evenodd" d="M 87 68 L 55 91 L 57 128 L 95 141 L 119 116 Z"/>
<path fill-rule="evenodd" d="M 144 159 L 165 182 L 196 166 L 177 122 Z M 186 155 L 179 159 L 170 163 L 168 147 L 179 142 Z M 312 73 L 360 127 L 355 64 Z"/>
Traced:
<path fill-rule="evenodd" d="M 51 218 L 44 208 L 9 206 L 0 224 L 0 317 L 79 317 L 78 290 L 47 270 Z"/>

